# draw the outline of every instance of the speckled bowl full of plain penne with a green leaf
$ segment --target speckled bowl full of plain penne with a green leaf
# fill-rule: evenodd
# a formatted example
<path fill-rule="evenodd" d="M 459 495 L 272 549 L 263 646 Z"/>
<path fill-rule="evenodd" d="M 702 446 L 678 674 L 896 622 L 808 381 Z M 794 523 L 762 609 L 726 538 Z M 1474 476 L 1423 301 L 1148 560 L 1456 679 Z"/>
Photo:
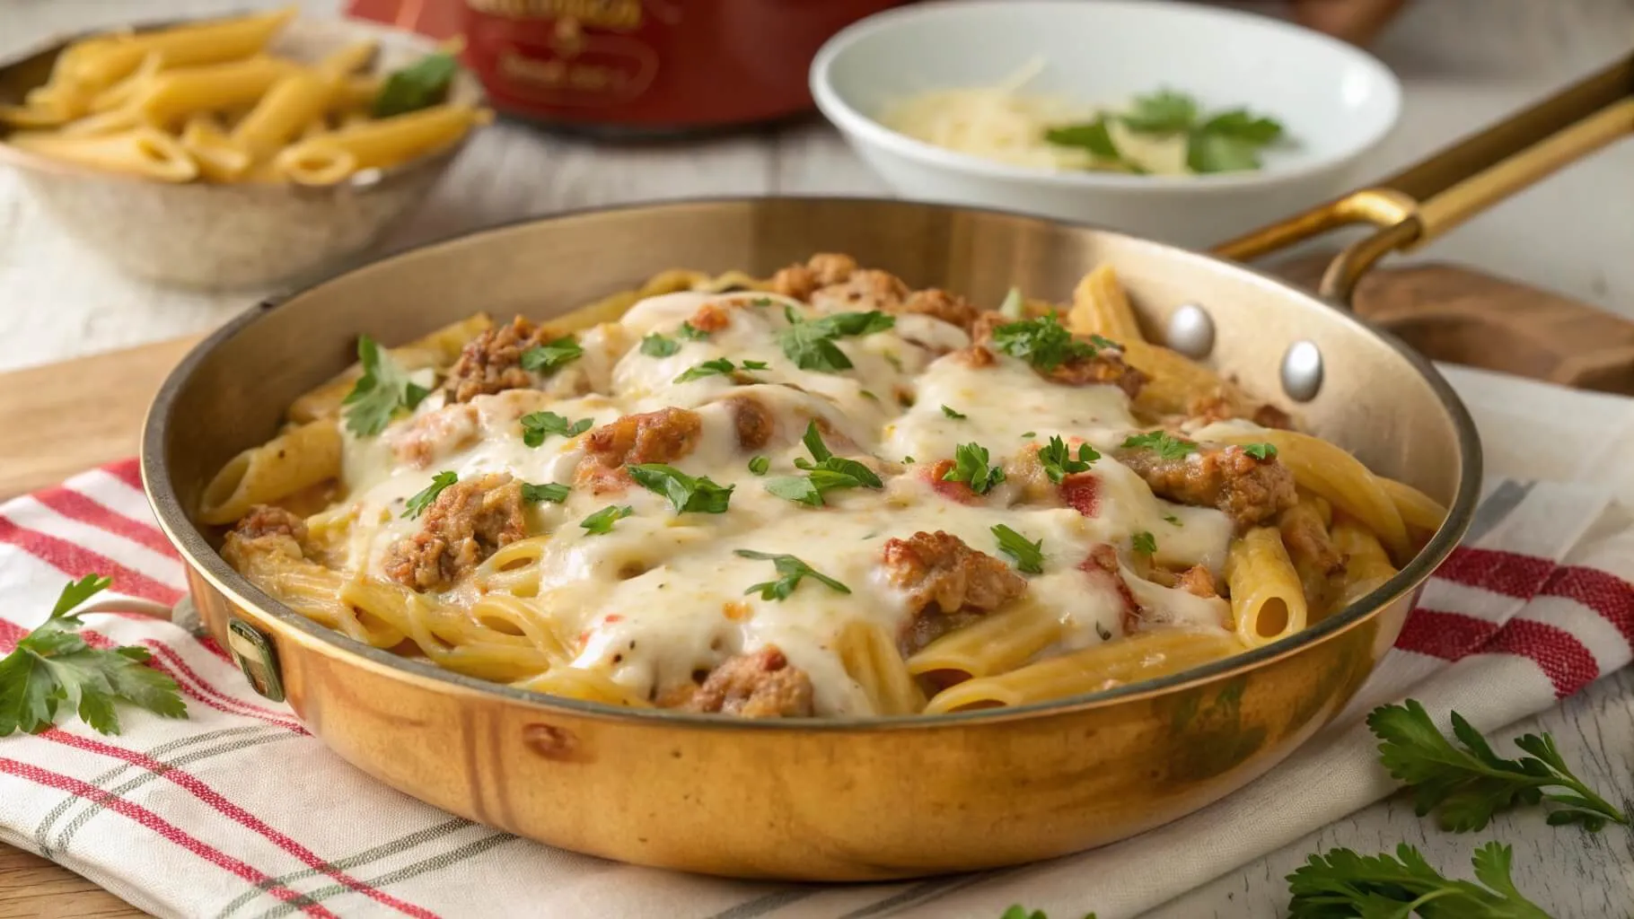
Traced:
<path fill-rule="evenodd" d="M 0 65 L 0 163 L 123 269 L 237 289 L 373 243 L 489 121 L 422 36 L 294 10 L 77 36 Z"/>

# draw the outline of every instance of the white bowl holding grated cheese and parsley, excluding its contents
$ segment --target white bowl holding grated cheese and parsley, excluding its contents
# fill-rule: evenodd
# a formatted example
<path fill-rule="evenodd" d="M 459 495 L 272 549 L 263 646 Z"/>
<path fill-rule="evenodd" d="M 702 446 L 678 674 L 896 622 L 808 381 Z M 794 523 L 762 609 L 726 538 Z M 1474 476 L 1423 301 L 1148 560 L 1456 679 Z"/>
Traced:
<path fill-rule="evenodd" d="M 1042 60 L 1026 91 L 1090 106 L 1172 88 L 1204 109 L 1279 119 L 1260 171 L 1141 176 L 1034 170 L 915 140 L 876 121 L 926 90 L 992 87 Z M 833 36 L 812 96 L 899 194 L 1100 224 L 1208 246 L 1346 191 L 1400 111 L 1384 64 L 1266 16 L 1162 0 L 958 0 L 869 16 Z"/>

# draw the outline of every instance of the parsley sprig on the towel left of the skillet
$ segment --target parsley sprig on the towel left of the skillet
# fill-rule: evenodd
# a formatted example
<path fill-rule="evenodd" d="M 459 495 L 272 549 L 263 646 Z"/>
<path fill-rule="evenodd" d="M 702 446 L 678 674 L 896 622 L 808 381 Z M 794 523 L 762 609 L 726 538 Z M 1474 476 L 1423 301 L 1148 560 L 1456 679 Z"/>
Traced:
<path fill-rule="evenodd" d="M 83 625 L 75 607 L 111 581 L 87 575 L 69 581 L 51 617 L 0 658 L 0 738 L 15 731 L 39 733 L 67 705 L 92 728 L 119 733 L 116 702 L 129 702 L 165 718 L 185 718 L 176 682 L 144 666 L 147 648 L 92 648 L 77 635 Z"/>

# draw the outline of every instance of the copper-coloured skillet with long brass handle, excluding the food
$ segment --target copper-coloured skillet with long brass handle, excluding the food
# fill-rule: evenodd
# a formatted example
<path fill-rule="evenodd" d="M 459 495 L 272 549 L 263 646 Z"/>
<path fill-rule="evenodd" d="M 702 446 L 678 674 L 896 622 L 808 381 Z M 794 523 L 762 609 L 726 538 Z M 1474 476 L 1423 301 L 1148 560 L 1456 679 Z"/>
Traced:
<path fill-rule="evenodd" d="M 340 756 L 467 818 L 578 852 L 735 877 L 877 880 L 1100 846 L 1194 811 L 1275 767 L 1391 646 L 1418 586 L 1469 526 L 1480 446 L 1420 356 L 1343 310 L 1381 255 L 1634 132 L 1634 60 L 1381 186 L 1224 246 L 1258 256 L 1346 222 L 1379 229 L 1312 297 L 1217 256 L 987 211 L 835 198 L 588 211 L 392 256 L 240 315 L 170 375 L 142 475 L 188 562 L 193 602 L 265 694 Z M 1546 137 L 1544 140 L 1538 140 Z M 1307 429 L 1448 503 L 1400 575 L 1286 642 L 1173 677 L 1018 708 L 891 720 L 737 721 L 551 699 L 363 646 L 234 573 L 193 522 L 208 477 L 351 361 L 359 333 L 407 340 L 477 310 L 549 317 L 670 266 L 765 274 L 848 251 L 913 284 L 998 302 L 1065 299 L 1118 266 L 1154 338 L 1183 304 L 1211 362 Z M 1193 353 L 1209 336 L 1176 341 Z M 1296 343 L 1306 343 L 1294 348 Z M 1319 357 L 1320 387 L 1284 356 Z M 1310 398 L 1306 398 L 1310 395 Z"/>

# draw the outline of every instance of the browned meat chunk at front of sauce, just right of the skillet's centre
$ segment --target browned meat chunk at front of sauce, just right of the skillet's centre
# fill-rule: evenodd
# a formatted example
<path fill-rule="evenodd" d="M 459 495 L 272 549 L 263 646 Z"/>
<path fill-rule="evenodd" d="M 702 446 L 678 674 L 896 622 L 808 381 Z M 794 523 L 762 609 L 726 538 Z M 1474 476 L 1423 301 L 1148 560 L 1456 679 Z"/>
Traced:
<path fill-rule="evenodd" d="M 1010 565 L 943 531 L 887 540 L 882 562 L 913 612 L 900 635 L 904 655 L 1026 593 L 1026 578 Z"/>

